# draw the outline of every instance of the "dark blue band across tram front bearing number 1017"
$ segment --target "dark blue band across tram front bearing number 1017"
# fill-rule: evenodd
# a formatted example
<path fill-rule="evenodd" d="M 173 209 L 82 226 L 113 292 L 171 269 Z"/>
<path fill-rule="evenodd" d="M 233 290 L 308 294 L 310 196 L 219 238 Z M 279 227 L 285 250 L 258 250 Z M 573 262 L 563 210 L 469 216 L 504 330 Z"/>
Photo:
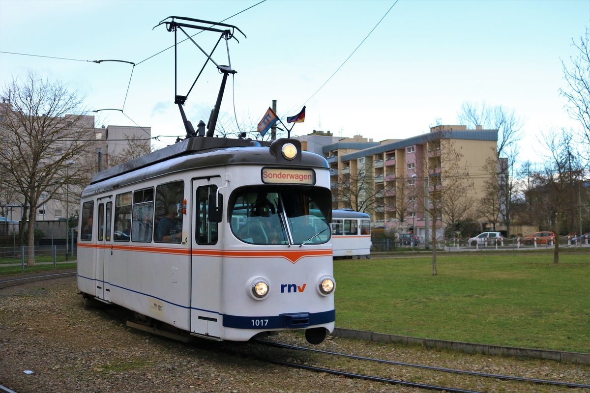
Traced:
<path fill-rule="evenodd" d="M 324 312 L 309 313 L 309 322 L 302 325 L 290 323 L 292 314 L 274 316 L 237 316 L 224 315 L 223 326 L 236 329 L 285 329 L 285 328 L 307 328 L 313 325 L 322 325 L 336 321 L 336 309 Z"/>

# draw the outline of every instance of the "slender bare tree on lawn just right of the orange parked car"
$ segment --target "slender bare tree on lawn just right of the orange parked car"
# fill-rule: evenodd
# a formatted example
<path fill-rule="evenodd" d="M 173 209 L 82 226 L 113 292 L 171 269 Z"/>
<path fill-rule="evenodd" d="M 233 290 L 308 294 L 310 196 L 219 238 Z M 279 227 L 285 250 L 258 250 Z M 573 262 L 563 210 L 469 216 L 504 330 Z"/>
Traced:
<path fill-rule="evenodd" d="M 571 132 L 563 128 L 550 130 L 543 133 L 543 141 L 549 154 L 536 181 L 552 213 L 553 232 L 559 236 L 571 196 L 578 189 L 578 179 L 584 174 L 584 165 L 579 160 Z M 559 242 L 553 247 L 553 263 L 559 263 Z"/>

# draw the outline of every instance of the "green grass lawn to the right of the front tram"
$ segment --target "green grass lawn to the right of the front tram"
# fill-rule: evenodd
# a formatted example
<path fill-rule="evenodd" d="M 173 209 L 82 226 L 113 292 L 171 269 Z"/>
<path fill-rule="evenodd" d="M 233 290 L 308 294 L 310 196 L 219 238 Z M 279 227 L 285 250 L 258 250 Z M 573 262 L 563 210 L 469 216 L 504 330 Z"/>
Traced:
<path fill-rule="evenodd" d="M 335 260 L 336 326 L 590 353 L 590 252 L 441 254 Z"/>

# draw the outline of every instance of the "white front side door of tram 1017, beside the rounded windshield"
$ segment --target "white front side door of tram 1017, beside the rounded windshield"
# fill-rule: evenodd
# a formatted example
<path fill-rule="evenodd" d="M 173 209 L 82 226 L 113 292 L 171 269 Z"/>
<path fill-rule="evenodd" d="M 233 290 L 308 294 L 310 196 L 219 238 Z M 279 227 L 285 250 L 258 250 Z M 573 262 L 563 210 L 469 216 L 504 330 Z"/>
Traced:
<path fill-rule="evenodd" d="M 219 224 L 208 220 L 208 201 L 209 194 L 215 193 L 220 183 L 220 177 L 212 177 L 193 179 L 191 186 L 191 332 L 214 337 L 221 333 L 222 322 L 222 240 Z"/>

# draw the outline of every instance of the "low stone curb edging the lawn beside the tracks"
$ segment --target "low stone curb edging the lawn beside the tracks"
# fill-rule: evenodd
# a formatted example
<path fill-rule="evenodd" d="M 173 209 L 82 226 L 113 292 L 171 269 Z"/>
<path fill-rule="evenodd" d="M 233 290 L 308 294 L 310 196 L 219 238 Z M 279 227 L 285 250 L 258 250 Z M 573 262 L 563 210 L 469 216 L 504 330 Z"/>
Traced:
<path fill-rule="evenodd" d="M 398 336 L 387 333 L 376 333 L 354 329 L 334 328 L 333 336 L 358 339 L 365 341 L 395 342 L 404 345 L 419 345 L 425 348 L 450 349 L 451 351 L 465 352 L 467 354 L 515 356 L 533 359 L 547 359 L 558 362 L 590 365 L 590 354 L 582 352 L 550 351 L 548 349 L 517 348 L 514 346 L 500 346 L 487 344 L 471 344 L 470 342 L 437 340 L 432 338 L 418 338 L 411 336 Z"/>

